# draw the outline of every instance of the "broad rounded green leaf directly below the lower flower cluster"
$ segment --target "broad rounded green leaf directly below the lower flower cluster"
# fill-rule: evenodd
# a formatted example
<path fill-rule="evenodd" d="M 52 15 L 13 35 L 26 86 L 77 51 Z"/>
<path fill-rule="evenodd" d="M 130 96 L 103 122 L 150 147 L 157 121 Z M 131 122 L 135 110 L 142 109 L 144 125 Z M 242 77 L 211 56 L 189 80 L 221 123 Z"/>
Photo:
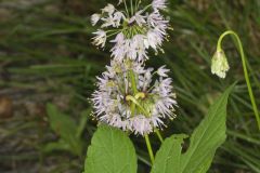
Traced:
<path fill-rule="evenodd" d="M 101 125 L 88 148 L 84 173 L 136 173 L 136 155 L 122 131 Z"/>

